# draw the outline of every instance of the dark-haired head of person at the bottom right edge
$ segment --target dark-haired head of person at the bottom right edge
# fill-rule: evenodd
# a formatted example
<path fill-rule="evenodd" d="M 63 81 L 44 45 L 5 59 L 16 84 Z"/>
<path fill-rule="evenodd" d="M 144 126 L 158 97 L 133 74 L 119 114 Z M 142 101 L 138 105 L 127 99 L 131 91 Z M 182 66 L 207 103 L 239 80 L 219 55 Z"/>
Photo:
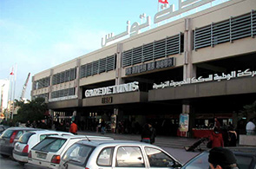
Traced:
<path fill-rule="evenodd" d="M 208 162 L 210 169 L 239 169 L 234 154 L 223 147 L 210 150 Z"/>

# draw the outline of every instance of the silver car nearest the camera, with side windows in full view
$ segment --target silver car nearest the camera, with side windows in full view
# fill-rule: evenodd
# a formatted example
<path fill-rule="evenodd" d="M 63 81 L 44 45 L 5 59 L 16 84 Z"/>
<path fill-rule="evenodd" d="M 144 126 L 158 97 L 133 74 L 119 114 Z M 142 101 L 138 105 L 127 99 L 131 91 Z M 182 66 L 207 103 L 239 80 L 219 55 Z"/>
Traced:
<path fill-rule="evenodd" d="M 62 156 L 60 169 L 180 168 L 161 147 L 137 141 L 81 140 Z"/>

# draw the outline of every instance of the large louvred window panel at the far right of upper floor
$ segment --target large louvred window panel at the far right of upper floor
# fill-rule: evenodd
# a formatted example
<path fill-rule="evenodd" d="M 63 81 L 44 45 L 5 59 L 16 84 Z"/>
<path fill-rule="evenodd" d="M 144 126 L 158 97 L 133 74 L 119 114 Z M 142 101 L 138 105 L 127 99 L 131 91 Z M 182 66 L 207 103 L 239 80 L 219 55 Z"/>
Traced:
<path fill-rule="evenodd" d="M 194 29 L 194 49 L 214 46 L 222 42 L 256 36 L 256 12 L 242 16 L 230 17 L 220 23 L 212 23 L 205 27 Z"/>

